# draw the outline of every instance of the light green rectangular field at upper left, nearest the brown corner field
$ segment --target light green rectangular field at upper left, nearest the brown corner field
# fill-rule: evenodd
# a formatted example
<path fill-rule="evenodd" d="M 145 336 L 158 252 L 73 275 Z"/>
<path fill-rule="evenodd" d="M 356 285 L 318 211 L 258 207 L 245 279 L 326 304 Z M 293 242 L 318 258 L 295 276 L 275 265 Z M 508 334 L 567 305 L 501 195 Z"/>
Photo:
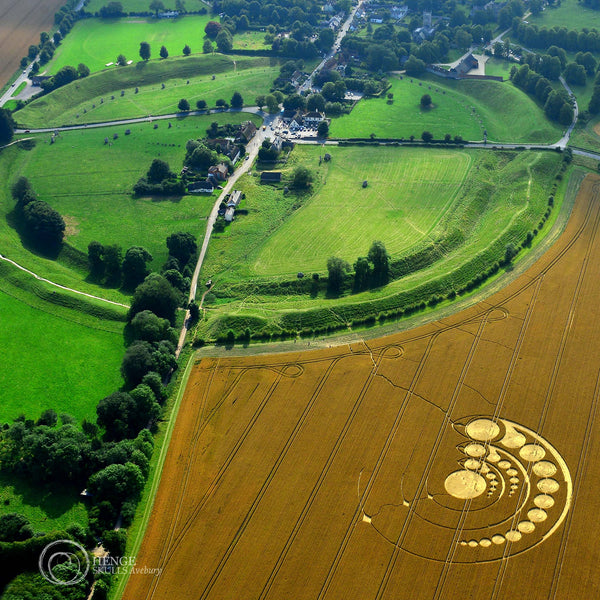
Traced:
<path fill-rule="evenodd" d="M 46 70 L 54 74 L 65 65 L 76 67 L 81 62 L 93 73 L 106 68 L 116 69 L 118 67 L 106 67 L 106 64 L 116 63 L 119 54 L 134 62 L 141 60 L 140 42 L 150 44 L 151 58 L 159 58 L 161 46 L 167 48 L 170 56 L 182 56 L 186 44 L 192 52 L 202 52 L 204 27 L 209 20 L 208 15 L 179 19 L 83 19 L 75 23 Z"/>

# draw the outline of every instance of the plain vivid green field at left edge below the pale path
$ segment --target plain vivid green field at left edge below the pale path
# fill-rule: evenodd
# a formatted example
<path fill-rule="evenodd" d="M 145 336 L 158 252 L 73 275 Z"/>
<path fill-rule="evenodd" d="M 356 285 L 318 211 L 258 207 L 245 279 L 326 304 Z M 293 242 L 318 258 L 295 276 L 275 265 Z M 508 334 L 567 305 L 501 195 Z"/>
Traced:
<path fill-rule="evenodd" d="M 96 404 L 123 384 L 122 332 L 105 331 L 100 319 L 97 328 L 82 325 L 50 303 L 40 309 L 13 294 L 21 295 L 0 281 L 0 423 L 20 414 L 37 419 L 47 408 L 93 421 Z"/>

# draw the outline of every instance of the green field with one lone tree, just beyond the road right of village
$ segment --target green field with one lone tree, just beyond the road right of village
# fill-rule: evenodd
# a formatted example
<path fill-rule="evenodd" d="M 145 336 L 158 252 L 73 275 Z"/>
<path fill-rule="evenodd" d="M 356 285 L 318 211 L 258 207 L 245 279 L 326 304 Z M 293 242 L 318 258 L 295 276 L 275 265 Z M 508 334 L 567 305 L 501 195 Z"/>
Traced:
<path fill-rule="evenodd" d="M 412 79 L 412 83 L 411 83 Z M 445 134 L 465 140 L 497 142 L 555 142 L 561 128 L 550 122 L 543 110 L 509 82 L 442 80 L 434 76 L 422 80 L 392 78 L 387 99 L 361 100 L 350 115 L 334 119 L 330 135 L 339 138 L 377 137 L 420 138 L 429 131 L 435 139 Z M 433 108 L 423 109 L 420 99 L 430 94 Z"/>

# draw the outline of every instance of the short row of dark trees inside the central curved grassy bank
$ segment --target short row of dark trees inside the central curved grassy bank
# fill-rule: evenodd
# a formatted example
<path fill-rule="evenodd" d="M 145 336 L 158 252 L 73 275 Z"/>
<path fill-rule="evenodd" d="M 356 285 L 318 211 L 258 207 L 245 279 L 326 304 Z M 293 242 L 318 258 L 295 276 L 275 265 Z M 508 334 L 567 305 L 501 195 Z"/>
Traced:
<path fill-rule="evenodd" d="M 354 263 L 352 290 L 362 292 L 369 288 L 386 285 L 390 278 L 390 257 L 381 241 L 374 241 L 367 256 L 359 256 Z M 332 256 L 327 260 L 327 292 L 337 296 L 348 280 L 350 265 L 347 261 Z"/>

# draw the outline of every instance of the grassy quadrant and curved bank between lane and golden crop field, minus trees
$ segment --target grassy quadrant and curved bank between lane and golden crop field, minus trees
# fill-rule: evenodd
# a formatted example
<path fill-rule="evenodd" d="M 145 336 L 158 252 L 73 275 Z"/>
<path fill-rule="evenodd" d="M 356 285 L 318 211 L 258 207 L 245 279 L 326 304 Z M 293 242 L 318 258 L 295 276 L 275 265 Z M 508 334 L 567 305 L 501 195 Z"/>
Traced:
<path fill-rule="evenodd" d="M 211 241 L 203 276 L 215 287 L 197 337 L 214 339 L 228 329 L 241 334 L 246 327 L 323 333 L 374 322 L 380 313 L 424 308 L 432 297 L 435 305 L 448 294 L 468 293 L 498 272 L 508 244 L 518 247 L 528 232 L 535 239 L 547 231 L 561 162 L 553 152 L 328 151 L 331 163 L 319 166 L 321 149 L 297 147 L 283 168 L 286 179 L 297 164 L 308 166 L 315 174 L 312 193 L 285 194 L 252 176 L 241 180 L 247 214 Z M 366 174 L 356 172 L 357 164 Z M 363 229 L 369 233 L 360 237 Z M 375 239 L 388 248 L 397 275 L 386 287 L 332 299 L 313 284 L 312 273 L 326 275 L 331 255 L 353 264 Z"/>

